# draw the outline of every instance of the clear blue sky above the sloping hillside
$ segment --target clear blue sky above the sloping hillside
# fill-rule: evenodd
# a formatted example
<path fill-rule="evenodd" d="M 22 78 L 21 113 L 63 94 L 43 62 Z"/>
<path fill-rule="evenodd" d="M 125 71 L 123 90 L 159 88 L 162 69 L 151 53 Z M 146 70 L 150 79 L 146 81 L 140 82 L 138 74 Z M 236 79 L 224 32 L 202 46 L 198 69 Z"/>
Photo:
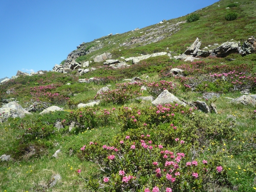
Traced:
<path fill-rule="evenodd" d="M 0 79 L 52 70 L 82 42 L 187 15 L 218 0 L 0 0 Z"/>

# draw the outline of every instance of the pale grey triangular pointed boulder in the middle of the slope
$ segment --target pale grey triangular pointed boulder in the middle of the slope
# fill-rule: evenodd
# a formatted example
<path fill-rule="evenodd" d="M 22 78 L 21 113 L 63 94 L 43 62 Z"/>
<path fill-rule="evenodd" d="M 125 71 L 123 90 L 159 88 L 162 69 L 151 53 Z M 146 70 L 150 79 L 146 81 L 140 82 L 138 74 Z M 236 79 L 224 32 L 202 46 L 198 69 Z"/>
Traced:
<path fill-rule="evenodd" d="M 186 106 L 186 103 L 181 102 L 176 96 L 170 93 L 168 90 L 164 90 L 154 101 L 152 101 L 153 105 L 164 105 L 167 103 L 177 103 L 180 105 Z"/>

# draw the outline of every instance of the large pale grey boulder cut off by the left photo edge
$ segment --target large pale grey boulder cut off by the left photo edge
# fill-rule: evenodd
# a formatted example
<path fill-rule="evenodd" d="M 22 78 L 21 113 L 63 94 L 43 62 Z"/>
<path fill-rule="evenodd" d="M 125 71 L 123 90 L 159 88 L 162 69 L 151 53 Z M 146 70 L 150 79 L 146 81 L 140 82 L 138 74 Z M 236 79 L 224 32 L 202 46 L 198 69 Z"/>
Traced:
<path fill-rule="evenodd" d="M 0 122 L 5 121 L 9 117 L 24 117 L 26 114 L 31 114 L 23 109 L 17 102 L 13 101 L 0 108 Z"/>

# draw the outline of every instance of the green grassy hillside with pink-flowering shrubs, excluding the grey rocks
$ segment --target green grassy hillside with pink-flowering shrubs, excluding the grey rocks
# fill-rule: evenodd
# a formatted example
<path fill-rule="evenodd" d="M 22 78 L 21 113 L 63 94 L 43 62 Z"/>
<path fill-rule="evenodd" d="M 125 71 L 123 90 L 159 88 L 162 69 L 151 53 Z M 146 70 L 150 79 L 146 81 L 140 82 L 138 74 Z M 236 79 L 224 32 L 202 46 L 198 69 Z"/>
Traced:
<path fill-rule="evenodd" d="M 236 2 L 238 6 L 230 9 L 226 8 L 233 1 L 221 0 L 198 10 L 199 20 L 180 23 L 171 32 L 171 25 L 186 16 L 96 39 L 88 46 L 104 46 L 79 61 L 92 61 L 103 52 L 127 58 L 167 47 L 172 55 L 179 55 L 197 37 L 201 47 L 231 39 L 243 42 L 256 35 L 255 2 Z M 225 20 L 229 12 L 238 14 L 236 20 Z M 162 35 L 163 40 L 129 44 L 154 29 L 162 31 L 154 38 Z M 1 191 L 256 191 L 256 107 L 230 99 L 256 94 L 255 62 L 256 54 L 195 62 L 163 55 L 127 68 L 92 62 L 90 67 L 97 69 L 82 76 L 77 71 L 47 72 L 1 84 L 2 105 L 4 99 L 15 98 L 23 108 L 38 101 L 64 109 L 43 115 L 38 110 L 0 124 L 0 156 L 11 156 L 10 161 L 0 161 Z M 184 70 L 183 76 L 173 76 L 172 68 Z M 123 81 L 135 76 L 146 81 Z M 91 77 L 96 79 L 78 82 Z M 96 94 L 107 85 L 110 91 Z M 147 90 L 142 91 L 142 86 Z M 156 98 L 163 90 L 186 102 L 214 104 L 217 113 L 176 103 L 153 106 L 137 98 Z M 215 97 L 206 98 L 207 93 Z M 101 102 L 77 107 L 93 100 Z M 58 157 L 52 157 L 59 149 Z M 56 175 L 61 180 L 52 179 Z"/>

